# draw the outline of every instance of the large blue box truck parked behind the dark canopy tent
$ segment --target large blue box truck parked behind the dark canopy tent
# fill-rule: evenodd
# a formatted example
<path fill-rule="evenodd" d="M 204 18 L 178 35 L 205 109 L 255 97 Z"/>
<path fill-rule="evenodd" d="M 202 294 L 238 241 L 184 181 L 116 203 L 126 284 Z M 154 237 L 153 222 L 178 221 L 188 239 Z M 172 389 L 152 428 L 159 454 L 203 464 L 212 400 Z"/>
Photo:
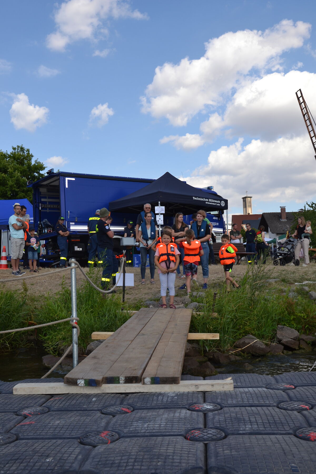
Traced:
<path fill-rule="evenodd" d="M 122 176 L 102 176 L 81 173 L 54 173 L 50 170 L 40 180 L 30 183 L 33 188 L 34 226 L 40 240 L 44 241 L 43 260 L 46 264 L 59 261 L 57 234 L 54 226 L 59 218 L 65 218 L 65 225 L 70 232 L 68 237 L 68 257 L 75 257 L 83 263 L 87 262 L 89 235 L 87 223 L 96 209 L 108 208 L 111 201 L 127 196 L 152 183 L 153 179 L 128 178 Z M 212 190 L 203 191 L 217 194 Z M 163 204 L 163 203 L 162 203 Z M 158 203 L 152 203 L 158 205 Z M 123 235 L 123 229 L 129 220 L 136 221 L 140 210 L 134 213 L 112 212 L 111 229 L 117 236 Z M 176 211 L 177 212 L 177 211 Z M 208 213 L 208 219 L 213 223 L 215 234 L 225 231 L 223 210 Z M 191 215 L 184 216 L 184 221 L 190 223 Z M 166 216 L 166 225 L 172 225 L 172 216 Z M 119 239 L 116 239 L 115 252 L 120 254 Z"/>

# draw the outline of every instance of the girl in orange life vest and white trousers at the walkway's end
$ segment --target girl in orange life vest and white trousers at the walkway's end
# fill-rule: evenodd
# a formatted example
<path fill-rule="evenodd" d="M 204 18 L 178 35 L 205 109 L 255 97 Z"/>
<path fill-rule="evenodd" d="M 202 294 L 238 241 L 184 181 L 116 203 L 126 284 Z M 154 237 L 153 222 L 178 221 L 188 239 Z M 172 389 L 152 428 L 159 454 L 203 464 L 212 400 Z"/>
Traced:
<path fill-rule="evenodd" d="M 166 304 L 166 294 L 167 288 L 169 288 L 169 308 L 175 309 L 173 304 L 174 301 L 174 282 L 176 279 L 176 270 L 180 262 L 180 252 L 172 242 L 172 235 L 168 230 L 163 231 L 161 236 L 162 242 L 157 244 L 157 249 L 155 253 L 155 265 L 158 267 L 158 274 L 161 284 L 161 299 L 163 304 L 162 308 L 167 308 Z"/>

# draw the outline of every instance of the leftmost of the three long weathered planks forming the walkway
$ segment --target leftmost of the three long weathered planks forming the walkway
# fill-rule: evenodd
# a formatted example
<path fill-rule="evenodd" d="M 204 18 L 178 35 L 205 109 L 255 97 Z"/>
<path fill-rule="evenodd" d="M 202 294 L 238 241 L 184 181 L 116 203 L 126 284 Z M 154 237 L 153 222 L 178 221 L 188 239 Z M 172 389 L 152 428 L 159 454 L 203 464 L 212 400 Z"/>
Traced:
<path fill-rule="evenodd" d="M 156 308 L 141 308 L 64 378 L 64 383 L 100 386 L 103 376 L 153 317 Z"/>

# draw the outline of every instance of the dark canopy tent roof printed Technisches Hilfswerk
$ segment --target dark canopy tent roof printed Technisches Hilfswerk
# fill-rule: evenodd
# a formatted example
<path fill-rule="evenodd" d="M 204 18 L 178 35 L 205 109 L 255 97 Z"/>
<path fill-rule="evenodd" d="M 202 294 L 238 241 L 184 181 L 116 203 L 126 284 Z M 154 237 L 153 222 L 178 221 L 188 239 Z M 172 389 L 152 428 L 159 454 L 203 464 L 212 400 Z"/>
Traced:
<path fill-rule="evenodd" d="M 165 214 L 169 216 L 173 216 L 176 211 L 192 214 L 199 209 L 206 212 L 228 209 L 227 200 L 218 194 L 194 188 L 168 172 L 139 191 L 111 201 L 108 209 L 118 212 L 140 212 L 144 209 L 144 203 L 150 202 L 152 206 L 157 206 L 159 201 L 161 206 L 165 206 Z"/>

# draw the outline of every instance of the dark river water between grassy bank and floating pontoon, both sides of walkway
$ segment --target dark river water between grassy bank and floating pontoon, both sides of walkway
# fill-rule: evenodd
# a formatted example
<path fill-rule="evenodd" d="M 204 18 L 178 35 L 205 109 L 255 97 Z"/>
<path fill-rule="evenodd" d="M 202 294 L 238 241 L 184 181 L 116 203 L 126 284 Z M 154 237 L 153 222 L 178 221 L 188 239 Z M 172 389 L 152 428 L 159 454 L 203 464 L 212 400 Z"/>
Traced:
<path fill-rule="evenodd" d="M 16 380 L 41 378 L 49 369 L 43 367 L 43 349 L 36 347 L 20 348 L 7 354 L 0 355 L 0 380 L 13 382 Z M 243 358 L 242 361 L 229 364 L 217 364 L 219 374 L 263 374 L 277 375 L 283 372 L 307 372 L 316 361 L 316 352 L 294 352 L 289 355 L 264 356 Z M 244 369 L 244 364 L 253 366 L 250 370 Z M 314 367 L 313 371 L 316 370 Z M 67 371 L 60 369 L 48 377 L 61 377 Z"/>

